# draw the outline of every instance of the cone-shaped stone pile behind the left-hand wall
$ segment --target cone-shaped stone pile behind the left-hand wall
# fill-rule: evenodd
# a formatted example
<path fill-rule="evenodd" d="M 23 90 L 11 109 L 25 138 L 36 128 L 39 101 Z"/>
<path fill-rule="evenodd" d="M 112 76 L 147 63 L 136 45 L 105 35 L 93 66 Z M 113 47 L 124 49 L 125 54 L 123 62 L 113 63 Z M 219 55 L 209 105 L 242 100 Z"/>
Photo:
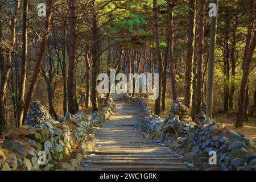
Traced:
<path fill-rule="evenodd" d="M 41 125 L 47 119 L 52 119 L 48 110 L 46 109 L 46 107 L 40 104 L 39 100 L 35 100 L 27 115 L 27 118 L 24 121 L 24 125 Z"/>

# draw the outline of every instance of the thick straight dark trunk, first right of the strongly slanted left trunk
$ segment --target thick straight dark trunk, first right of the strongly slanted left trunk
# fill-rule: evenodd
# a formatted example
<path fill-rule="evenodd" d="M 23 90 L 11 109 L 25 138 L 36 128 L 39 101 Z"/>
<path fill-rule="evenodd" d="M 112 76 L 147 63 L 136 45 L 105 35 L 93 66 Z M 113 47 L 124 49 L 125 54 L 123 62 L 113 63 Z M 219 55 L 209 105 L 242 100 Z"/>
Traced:
<path fill-rule="evenodd" d="M 69 52 L 68 52 L 68 111 L 71 114 L 77 112 L 76 108 L 76 93 L 75 93 L 75 75 L 76 75 L 76 44 L 77 44 L 77 33 L 76 33 L 76 5 L 77 0 L 68 1 L 69 9 Z"/>

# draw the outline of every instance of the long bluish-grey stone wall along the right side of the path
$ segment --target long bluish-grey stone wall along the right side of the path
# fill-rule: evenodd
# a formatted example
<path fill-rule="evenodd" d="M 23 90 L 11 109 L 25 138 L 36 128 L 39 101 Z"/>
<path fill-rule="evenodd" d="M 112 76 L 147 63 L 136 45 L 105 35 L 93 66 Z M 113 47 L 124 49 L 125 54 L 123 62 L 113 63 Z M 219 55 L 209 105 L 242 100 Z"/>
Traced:
<path fill-rule="evenodd" d="M 141 131 L 144 137 L 168 144 L 179 155 L 191 160 L 201 169 L 223 171 L 256 169 L 255 143 L 249 137 L 234 130 L 226 130 L 221 123 L 210 122 L 208 119 L 198 123 L 190 119 L 181 121 L 180 115 L 184 114 L 180 113 L 181 111 L 176 112 L 183 107 L 179 101 L 174 102 L 166 119 L 163 119 L 151 114 L 150 107 L 143 97 L 125 96 L 125 100 L 138 105 L 141 111 L 142 129 L 146 133 Z M 215 151 L 217 154 L 216 165 L 209 164 L 210 151 Z"/>

